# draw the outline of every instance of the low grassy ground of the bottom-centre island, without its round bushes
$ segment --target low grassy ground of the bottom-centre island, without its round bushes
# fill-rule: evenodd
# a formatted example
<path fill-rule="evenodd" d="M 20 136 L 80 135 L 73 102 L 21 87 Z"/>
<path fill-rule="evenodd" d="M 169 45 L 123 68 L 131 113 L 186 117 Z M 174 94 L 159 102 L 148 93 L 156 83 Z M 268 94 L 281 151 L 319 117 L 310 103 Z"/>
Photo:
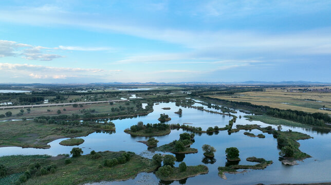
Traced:
<path fill-rule="evenodd" d="M 170 167 L 170 166 L 169 166 Z M 157 177 L 159 177 L 161 180 L 181 180 L 188 177 L 194 177 L 200 174 L 207 174 L 208 173 L 208 167 L 205 165 L 196 165 L 196 166 L 188 166 L 185 171 L 180 170 L 180 168 L 168 168 L 169 174 L 166 172 L 164 173 L 161 168 L 167 168 L 167 167 L 160 167 L 159 170 L 155 173 Z"/>

